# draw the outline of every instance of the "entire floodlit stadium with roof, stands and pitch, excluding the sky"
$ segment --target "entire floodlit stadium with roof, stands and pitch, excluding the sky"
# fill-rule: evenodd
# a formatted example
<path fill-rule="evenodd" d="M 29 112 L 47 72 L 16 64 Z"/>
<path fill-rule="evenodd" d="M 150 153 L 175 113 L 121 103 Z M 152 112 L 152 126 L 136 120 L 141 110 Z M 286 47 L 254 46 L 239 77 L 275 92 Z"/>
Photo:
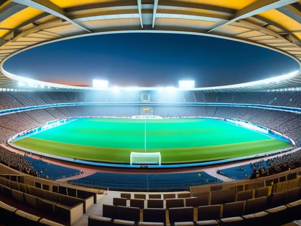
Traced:
<path fill-rule="evenodd" d="M 301 67 L 208 87 L 76 86 L 3 67 L 120 33 L 227 39 L 300 66 L 300 2 L 8 0 L 0 15 L 0 225 L 301 224 Z"/>

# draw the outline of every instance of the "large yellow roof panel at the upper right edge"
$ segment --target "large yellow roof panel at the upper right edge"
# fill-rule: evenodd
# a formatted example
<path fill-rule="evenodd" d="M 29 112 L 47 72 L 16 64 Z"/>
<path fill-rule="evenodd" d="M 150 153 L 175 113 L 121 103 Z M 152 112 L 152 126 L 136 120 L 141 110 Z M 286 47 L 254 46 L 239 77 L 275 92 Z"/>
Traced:
<path fill-rule="evenodd" d="M 276 9 L 272 9 L 266 11 L 264 13 L 258 14 L 259 16 L 271 20 L 277 24 L 280 24 L 282 27 L 286 28 L 287 30 L 301 30 L 301 24 L 299 24 L 296 20 L 291 19 L 287 15 L 279 12 Z"/>

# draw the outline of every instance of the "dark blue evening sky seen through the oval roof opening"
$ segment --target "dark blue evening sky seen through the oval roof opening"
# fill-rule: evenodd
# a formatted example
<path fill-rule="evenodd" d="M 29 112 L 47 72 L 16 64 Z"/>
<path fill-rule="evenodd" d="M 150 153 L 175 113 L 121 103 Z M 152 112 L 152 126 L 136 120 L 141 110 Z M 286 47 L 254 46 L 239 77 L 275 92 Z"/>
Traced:
<path fill-rule="evenodd" d="M 17 65 L 17 66 L 16 66 Z M 106 79 L 111 85 L 220 86 L 299 69 L 281 53 L 206 36 L 129 33 L 88 36 L 21 52 L 4 64 L 13 74 L 71 85 Z"/>

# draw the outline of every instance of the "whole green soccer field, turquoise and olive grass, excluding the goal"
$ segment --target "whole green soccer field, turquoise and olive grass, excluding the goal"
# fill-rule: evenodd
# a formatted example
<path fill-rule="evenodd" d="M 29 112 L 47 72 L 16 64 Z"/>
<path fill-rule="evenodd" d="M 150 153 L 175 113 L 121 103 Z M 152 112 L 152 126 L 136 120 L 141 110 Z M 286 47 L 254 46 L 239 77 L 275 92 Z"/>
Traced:
<path fill-rule="evenodd" d="M 160 152 L 162 163 L 259 154 L 290 143 L 210 118 L 80 118 L 25 137 L 15 145 L 52 155 L 130 162 L 131 152 Z"/>

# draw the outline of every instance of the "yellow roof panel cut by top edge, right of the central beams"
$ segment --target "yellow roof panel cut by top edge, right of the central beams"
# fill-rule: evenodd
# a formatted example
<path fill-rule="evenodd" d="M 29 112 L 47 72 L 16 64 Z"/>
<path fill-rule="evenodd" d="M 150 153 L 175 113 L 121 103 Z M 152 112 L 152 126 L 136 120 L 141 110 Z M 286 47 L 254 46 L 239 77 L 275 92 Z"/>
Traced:
<path fill-rule="evenodd" d="M 60 0 L 58 0 L 60 1 Z M 256 2 L 256 0 L 175 0 L 175 1 L 181 1 L 181 2 L 192 2 L 192 3 L 200 3 L 200 4 L 206 4 L 206 5 L 216 5 L 220 7 L 230 8 L 230 9 L 242 9 L 246 7 L 247 5 L 250 5 L 253 2 Z M 264 1 L 264 0 L 261 0 Z M 160 4 L 160 2 L 159 2 Z"/>

